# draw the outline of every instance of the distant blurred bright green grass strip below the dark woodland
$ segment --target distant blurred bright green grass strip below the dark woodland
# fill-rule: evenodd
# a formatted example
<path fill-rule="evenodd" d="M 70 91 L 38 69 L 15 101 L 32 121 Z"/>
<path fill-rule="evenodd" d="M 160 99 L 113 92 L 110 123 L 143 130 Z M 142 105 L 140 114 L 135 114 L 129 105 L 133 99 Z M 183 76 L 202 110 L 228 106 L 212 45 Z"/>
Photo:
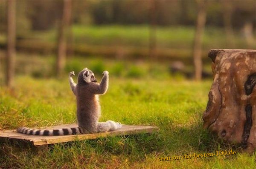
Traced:
<path fill-rule="evenodd" d="M 21 34 L 23 38 L 35 38 L 45 42 L 56 42 L 57 30 L 28 31 Z M 75 44 L 87 44 L 93 46 L 135 46 L 148 47 L 150 28 L 141 26 L 86 26 L 73 25 L 73 40 Z M 192 49 L 195 28 L 192 26 L 168 26 L 157 27 L 157 47 L 169 49 Z M 245 38 L 239 30 L 235 30 L 234 46 L 232 48 L 248 49 Z M 255 37 L 256 38 L 256 37 Z M 0 40 L 3 39 L 0 38 Z M 203 36 L 203 49 L 227 48 L 227 39 L 223 28 L 205 28 Z"/>

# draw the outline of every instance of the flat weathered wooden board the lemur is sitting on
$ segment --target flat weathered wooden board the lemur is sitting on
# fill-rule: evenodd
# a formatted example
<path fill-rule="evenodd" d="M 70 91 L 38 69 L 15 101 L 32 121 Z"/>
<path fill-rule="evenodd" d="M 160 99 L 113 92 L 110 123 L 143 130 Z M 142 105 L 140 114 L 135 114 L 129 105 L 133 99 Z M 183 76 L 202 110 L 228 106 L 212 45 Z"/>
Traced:
<path fill-rule="evenodd" d="M 77 124 L 67 124 L 61 126 L 52 126 L 44 129 L 62 129 L 67 127 L 75 127 Z M 4 130 L 0 131 L 0 141 L 1 140 L 14 140 L 26 143 L 31 143 L 34 146 L 54 144 L 54 143 L 64 143 L 74 140 L 90 140 L 99 137 L 108 136 L 122 136 L 122 135 L 134 135 L 140 133 L 151 133 L 157 131 L 158 127 L 154 126 L 133 126 L 133 125 L 122 125 L 121 129 L 117 129 L 112 132 L 86 134 L 86 135 L 63 135 L 63 136 L 40 136 L 40 135 L 24 135 L 17 133 L 16 130 Z"/>

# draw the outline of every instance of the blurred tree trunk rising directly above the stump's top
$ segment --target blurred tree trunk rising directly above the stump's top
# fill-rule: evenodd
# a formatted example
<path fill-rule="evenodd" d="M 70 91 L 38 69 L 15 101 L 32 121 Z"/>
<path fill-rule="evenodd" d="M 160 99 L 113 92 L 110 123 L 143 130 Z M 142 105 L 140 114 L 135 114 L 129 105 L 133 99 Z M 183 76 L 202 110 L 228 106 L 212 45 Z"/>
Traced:
<path fill-rule="evenodd" d="M 232 27 L 232 2 L 231 0 L 222 0 L 224 9 L 223 9 L 223 17 L 224 17 L 224 28 L 227 36 L 227 46 L 229 48 L 234 47 L 234 33 Z"/>

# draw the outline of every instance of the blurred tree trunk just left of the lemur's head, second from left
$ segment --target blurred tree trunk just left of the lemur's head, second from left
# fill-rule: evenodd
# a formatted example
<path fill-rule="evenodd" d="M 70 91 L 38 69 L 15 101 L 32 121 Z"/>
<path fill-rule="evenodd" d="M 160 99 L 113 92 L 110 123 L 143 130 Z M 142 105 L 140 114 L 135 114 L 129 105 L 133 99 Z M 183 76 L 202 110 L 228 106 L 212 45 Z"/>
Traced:
<path fill-rule="evenodd" d="M 61 25 L 58 31 L 58 55 L 57 55 L 57 77 L 61 77 L 64 66 L 65 57 L 67 54 L 67 31 L 70 25 L 71 19 L 71 0 L 63 0 L 63 16 Z"/>

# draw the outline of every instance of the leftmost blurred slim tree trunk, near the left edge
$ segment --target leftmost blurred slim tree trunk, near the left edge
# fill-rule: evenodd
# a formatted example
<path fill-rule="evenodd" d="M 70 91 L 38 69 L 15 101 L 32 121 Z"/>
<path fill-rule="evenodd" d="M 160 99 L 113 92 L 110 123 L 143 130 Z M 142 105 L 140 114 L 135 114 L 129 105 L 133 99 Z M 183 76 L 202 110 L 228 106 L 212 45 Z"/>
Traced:
<path fill-rule="evenodd" d="M 6 85 L 13 87 L 15 73 L 16 0 L 7 1 Z"/>

